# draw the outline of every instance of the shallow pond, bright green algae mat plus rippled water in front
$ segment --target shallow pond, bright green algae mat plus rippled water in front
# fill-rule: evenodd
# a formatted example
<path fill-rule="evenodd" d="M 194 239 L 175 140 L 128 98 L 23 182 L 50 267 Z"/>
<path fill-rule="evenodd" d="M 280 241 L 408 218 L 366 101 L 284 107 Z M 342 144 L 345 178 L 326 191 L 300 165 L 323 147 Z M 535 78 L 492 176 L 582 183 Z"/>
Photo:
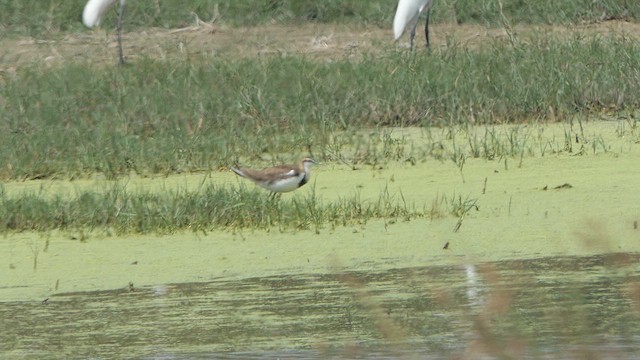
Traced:
<path fill-rule="evenodd" d="M 386 191 L 440 209 L 435 218 L 284 232 L 5 234 L 0 357 L 637 358 L 640 142 L 616 124 L 589 126 L 606 149 L 463 167 L 432 158 L 330 164 L 286 195 L 315 189 L 319 201 L 357 193 L 366 202 Z M 550 129 L 559 135 L 541 144 L 563 143 L 562 125 Z M 130 191 L 167 191 L 241 179 L 126 181 Z M 108 186 L 51 180 L 3 191 Z M 478 206 L 457 218 L 443 205 L 456 199 Z"/>

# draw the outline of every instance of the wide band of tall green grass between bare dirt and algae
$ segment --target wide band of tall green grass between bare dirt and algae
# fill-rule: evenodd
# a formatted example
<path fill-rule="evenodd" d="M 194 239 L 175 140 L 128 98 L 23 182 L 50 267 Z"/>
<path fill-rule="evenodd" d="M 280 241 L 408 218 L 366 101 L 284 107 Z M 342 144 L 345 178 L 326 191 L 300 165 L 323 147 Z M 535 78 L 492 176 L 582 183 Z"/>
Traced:
<path fill-rule="evenodd" d="M 638 53 L 640 45 L 624 38 L 534 38 L 473 51 L 452 45 L 428 56 L 388 51 L 358 62 L 291 56 L 146 59 L 124 69 L 34 64 L 0 75 L 0 178 L 171 174 L 265 153 L 289 161 L 279 156 L 309 150 L 322 161 L 405 160 L 388 139 L 372 145 L 355 134 L 633 112 L 640 106 Z M 385 152 L 374 151 L 378 145 Z M 472 156 L 505 154 L 480 145 L 486 142 L 472 144 Z"/>

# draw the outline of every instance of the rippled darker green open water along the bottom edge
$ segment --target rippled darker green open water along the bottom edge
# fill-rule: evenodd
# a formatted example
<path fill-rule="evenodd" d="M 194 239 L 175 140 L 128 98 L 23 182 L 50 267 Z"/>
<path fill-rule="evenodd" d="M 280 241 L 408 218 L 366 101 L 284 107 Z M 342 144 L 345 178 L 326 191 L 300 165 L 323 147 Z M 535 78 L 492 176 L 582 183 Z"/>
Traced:
<path fill-rule="evenodd" d="M 637 358 L 637 254 L 0 303 L 2 357 Z"/>

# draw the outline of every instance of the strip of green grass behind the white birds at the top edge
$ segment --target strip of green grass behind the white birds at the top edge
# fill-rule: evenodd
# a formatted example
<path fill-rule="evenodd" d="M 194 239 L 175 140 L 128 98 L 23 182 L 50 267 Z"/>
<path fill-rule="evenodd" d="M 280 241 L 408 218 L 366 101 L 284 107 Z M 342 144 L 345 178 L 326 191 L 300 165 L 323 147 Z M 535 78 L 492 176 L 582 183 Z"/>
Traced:
<path fill-rule="evenodd" d="M 56 36 L 83 31 L 85 0 L 2 0 L 0 37 Z M 580 23 L 608 19 L 637 21 L 640 3 L 629 0 L 502 0 L 502 13 L 514 23 Z M 194 23 L 195 16 L 228 26 L 259 26 L 271 23 L 351 22 L 390 27 L 394 0 L 181 0 L 129 1 L 126 31 L 141 27 L 176 28 Z M 113 24 L 114 14 L 105 22 Z M 434 23 L 502 24 L 499 0 L 436 0 Z"/>

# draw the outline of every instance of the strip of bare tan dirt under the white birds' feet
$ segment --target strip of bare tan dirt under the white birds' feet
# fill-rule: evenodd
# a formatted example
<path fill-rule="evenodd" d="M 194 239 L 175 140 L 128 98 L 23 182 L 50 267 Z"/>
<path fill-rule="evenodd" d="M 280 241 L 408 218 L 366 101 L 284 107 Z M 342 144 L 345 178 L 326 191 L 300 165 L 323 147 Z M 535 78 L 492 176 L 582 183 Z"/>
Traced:
<path fill-rule="evenodd" d="M 106 31 L 105 31 L 106 30 Z M 421 35 L 421 34 L 420 34 Z M 424 37 L 417 36 L 418 51 L 424 51 Z M 578 26 L 518 25 L 512 29 L 480 25 L 438 24 L 431 27 L 435 49 L 450 46 L 474 48 L 494 41 L 529 41 L 534 37 L 607 37 L 611 35 L 640 39 L 640 24 L 606 21 Z M 408 49 L 408 36 L 394 43 L 391 29 L 343 24 L 266 25 L 230 28 L 198 22 L 180 29 L 148 29 L 124 34 L 124 52 L 130 62 L 142 57 L 187 59 L 206 57 L 287 56 L 302 54 L 308 58 L 331 61 L 357 60 L 395 46 Z M 24 64 L 55 65 L 69 61 L 92 63 L 116 62 L 115 33 L 106 26 L 101 30 L 69 34 L 49 39 L 9 38 L 0 40 L 0 73 L 14 72 Z"/>

